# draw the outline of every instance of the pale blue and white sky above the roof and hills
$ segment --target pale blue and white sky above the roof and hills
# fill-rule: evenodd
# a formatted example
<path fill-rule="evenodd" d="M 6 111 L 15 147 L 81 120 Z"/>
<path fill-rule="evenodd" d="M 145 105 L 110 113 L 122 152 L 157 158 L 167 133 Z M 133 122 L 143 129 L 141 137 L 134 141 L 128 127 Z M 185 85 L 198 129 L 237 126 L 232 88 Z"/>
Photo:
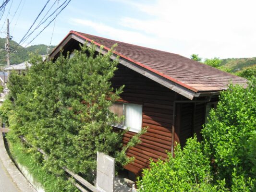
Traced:
<path fill-rule="evenodd" d="M 19 42 L 46 2 L 22 0 L 14 15 L 20 0 L 10 0 L 0 20 L 0 37 L 6 36 L 9 18 L 10 34 Z M 29 45 L 49 45 L 51 36 L 51 45 L 58 45 L 74 30 L 188 58 L 256 57 L 255 8 L 256 0 L 71 0 L 56 18 L 54 31 L 53 22 Z"/>

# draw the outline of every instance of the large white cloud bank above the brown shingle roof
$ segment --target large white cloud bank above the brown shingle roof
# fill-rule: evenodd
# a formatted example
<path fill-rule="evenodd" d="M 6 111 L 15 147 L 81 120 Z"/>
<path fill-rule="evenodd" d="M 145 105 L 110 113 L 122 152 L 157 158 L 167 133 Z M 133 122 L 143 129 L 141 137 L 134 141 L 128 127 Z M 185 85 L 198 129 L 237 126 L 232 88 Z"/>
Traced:
<path fill-rule="evenodd" d="M 76 18 L 72 23 L 90 27 L 101 36 L 186 57 L 192 53 L 205 58 L 256 56 L 255 0 L 110 1 L 139 14 L 117 16 L 119 26 L 115 27 Z"/>

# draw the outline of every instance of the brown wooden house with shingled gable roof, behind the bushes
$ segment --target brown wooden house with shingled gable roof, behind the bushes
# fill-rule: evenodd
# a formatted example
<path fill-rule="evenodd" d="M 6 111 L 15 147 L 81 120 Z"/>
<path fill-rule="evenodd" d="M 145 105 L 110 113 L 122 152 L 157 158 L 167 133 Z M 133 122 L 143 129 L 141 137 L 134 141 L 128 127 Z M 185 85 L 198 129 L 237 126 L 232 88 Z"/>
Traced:
<path fill-rule="evenodd" d="M 200 140 L 202 125 L 209 109 L 216 106 L 219 93 L 226 90 L 230 81 L 245 85 L 246 80 L 227 72 L 219 71 L 183 56 L 145 48 L 103 37 L 70 31 L 52 51 L 49 58 L 79 49 L 79 44 L 104 45 L 102 54 L 118 44 L 114 56 L 120 56 L 118 70 L 111 80 L 113 87 L 125 85 L 121 99 L 110 108 L 125 121 L 115 127 L 131 127 L 124 134 L 123 144 L 148 127 L 141 136 L 141 144 L 128 149 L 127 156 L 134 156 L 134 163 L 124 168 L 139 175 L 148 168 L 149 159 L 165 159 L 173 152 L 175 143 L 185 144 L 186 139 L 197 135 Z"/>

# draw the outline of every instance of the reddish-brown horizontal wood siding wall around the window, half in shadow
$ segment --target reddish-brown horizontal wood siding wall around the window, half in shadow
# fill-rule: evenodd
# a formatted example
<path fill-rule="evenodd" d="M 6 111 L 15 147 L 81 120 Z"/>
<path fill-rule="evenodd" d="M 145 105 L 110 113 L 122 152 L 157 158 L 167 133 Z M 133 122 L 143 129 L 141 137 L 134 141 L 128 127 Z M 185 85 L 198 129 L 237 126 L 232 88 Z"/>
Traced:
<path fill-rule="evenodd" d="M 148 167 L 150 158 L 154 161 L 165 159 L 166 152 L 171 152 L 173 100 L 176 94 L 121 64 L 111 82 L 115 88 L 125 85 L 120 101 L 143 105 L 142 126 L 148 129 L 141 136 L 142 143 L 128 149 L 127 156 L 134 156 L 135 160 L 125 166 L 139 174 L 142 168 Z M 123 144 L 127 144 L 134 134 L 125 133 Z"/>

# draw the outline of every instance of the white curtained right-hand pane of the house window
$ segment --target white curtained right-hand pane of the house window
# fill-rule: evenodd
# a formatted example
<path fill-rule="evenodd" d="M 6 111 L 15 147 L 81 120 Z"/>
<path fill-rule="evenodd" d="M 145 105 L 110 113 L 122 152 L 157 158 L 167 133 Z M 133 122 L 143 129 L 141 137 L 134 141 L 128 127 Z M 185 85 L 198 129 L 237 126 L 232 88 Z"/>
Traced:
<path fill-rule="evenodd" d="M 142 105 L 125 104 L 125 128 L 130 127 L 131 132 L 139 132 L 142 123 Z"/>

